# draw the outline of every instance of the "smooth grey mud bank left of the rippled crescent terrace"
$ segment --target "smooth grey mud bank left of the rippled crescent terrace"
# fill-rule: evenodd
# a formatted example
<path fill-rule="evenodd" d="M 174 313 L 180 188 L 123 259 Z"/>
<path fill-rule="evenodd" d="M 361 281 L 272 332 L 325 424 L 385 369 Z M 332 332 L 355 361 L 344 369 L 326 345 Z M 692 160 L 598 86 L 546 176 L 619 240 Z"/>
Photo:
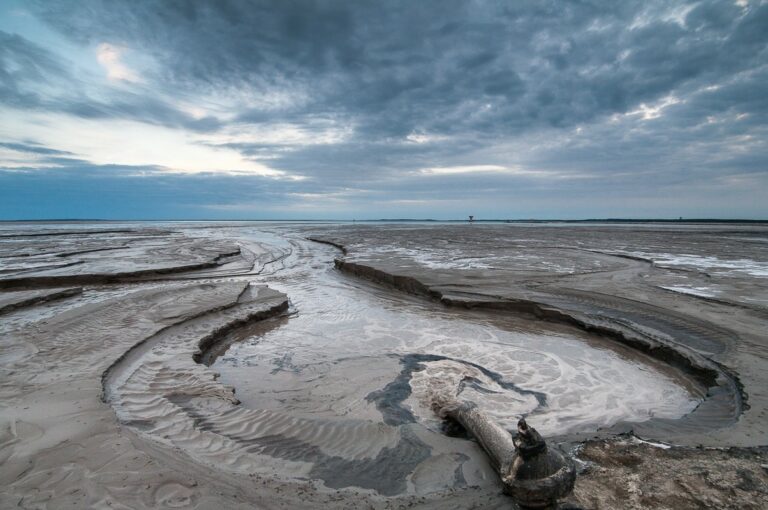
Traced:
<path fill-rule="evenodd" d="M 166 285 L 73 308 L 4 335 L 0 507 L 140 508 L 220 501 L 210 484 L 194 489 L 192 477 L 199 469 L 186 463 L 174 468 L 172 458 L 158 459 L 146 445 L 133 442 L 130 428 L 119 426 L 99 398 L 101 379 L 111 373 L 113 360 L 130 359 L 137 346 L 169 328 L 190 321 L 207 325 L 227 311 L 236 315 L 210 332 L 216 335 L 237 321 L 285 307 L 284 298 L 267 292 L 267 299 L 263 290 L 246 300 L 247 290 L 246 283 Z M 192 365 L 197 347 L 191 345 Z M 231 399 L 231 390 L 228 395 Z M 220 490 L 227 491 L 227 484 Z"/>

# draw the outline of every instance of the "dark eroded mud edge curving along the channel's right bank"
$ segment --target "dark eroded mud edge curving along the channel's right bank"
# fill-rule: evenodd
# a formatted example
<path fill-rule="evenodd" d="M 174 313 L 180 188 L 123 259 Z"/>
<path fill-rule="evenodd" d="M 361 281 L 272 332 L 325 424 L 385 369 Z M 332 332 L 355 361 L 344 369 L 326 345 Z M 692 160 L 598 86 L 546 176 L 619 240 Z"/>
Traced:
<path fill-rule="evenodd" d="M 325 242 L 325 244 L 332 243 Z M 477 300 L 446 296 L 412 276 L 391 274 L 372 266 L 349 262 L 340 258 L 334 259 L 334 264 L 337 269 L 347 274 L 385 284 L 400 291 L 425 296 L 440 301 L 446 306 L 525 313 L 550 322 L 576 326 L 589 333 L 618 341 L 667 363 L 691 375 L 707 388 L 707 395 L 701 404 L 677 420 L 652 418 L 642 423 L 620 422 L 610 428 L 601 429 L 597 433 L 569 435 L 563 439 L 578 441 L 586 439 L 586 437 L 611 437 L 634 431 L 646 438 L 675 442 L 680 441 L 681 437 L 679 431 L 671 432 L 675 427 L 682 429 L 682 436 L 687 433 L 695 434 L 724 428 L 733 425 L 742 412 L 749 409 L 744 386 L 733 371 L 702 354 L 686 349 L 682 345 L 667 343 L 662 339 L 649 338 L 639 333 L 632 334 L 605 324 L 597 324 L 584 314 L 563 310 L 548 303 L 481 295 L 478 297 L 482 299 Z M 706 418 L 699 419 L 700 416 L 706 416 Z"/>

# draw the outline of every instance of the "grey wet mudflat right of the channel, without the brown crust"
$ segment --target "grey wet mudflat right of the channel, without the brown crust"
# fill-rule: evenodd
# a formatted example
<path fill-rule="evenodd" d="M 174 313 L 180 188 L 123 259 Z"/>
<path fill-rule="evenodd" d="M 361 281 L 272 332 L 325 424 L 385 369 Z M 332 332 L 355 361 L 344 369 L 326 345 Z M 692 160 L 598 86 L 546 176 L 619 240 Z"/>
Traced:
<path fill-rule="evenodd" d="M 678 444 L 766 441 L 768 381 L 754 370 L 766 354 L 758 326 L 768 317 L 760 301 L 768 282 L 764 227 L 349 226 L 313 236 L 347 250 L 336 264 L 349 273 L 452 306 L 572 323 L 708 387 L 684 420 L 654 420 L 632 426 L 636 432 Z M 719 298 L 669 290 L 681 281 L 715 285 Z"/>

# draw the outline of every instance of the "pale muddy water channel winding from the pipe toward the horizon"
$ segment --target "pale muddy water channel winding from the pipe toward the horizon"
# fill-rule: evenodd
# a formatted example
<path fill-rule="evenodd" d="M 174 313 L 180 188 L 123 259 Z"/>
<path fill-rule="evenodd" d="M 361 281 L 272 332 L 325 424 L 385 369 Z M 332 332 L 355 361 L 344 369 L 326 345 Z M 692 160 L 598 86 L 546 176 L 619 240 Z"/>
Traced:
<path fill-rule="evenodd" d="M 391 495 L 493 478 L 473 443 L 442 433 L 430 408 L 442 393 L 474 401 L 509 429 L 525 416 L 546 436 L 677 418 L 700 401 L 696 386 L 676 370 L 611 341 L 508 313 L 448 309 L 346 276 L 333 269 L 338 250 L 300 231 L 210 235 L 254 251 L 269 245 L 275 261 L 258 280 L 286 293 L 292 305 L 287 316 L 240 330 L 205 360 L 236 388 L 241 406 L 268 419 L 315 423 L 321 449 L 339 434 L 350 444 L 375 444 L 392 429 L 409 442 L 407 454 L 363 448 L 348 455 L 346 469 L 313 469 L 311 476 L 331 487 Z M 294 446 L 289 453 L 291 444 L 281 444 L 273 455 L 318 463 L 306 445 Z M 380 466 L 362 478 L 340 473 L 362 459 Z M 375 479 L 383 473 L 386 480 Z"/>

